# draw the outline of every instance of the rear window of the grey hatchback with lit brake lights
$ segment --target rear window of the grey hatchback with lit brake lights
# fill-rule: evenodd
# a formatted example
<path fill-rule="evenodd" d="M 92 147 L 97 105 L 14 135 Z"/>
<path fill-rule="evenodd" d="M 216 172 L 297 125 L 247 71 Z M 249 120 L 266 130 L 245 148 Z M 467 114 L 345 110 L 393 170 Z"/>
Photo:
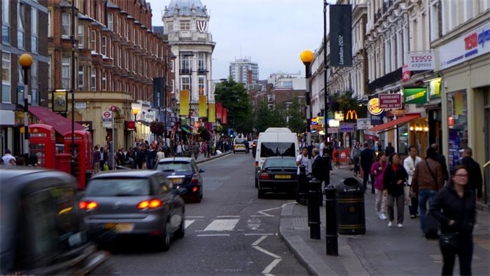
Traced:
<path fill-rule="evenodd" d="M 151 184 L 144 178 L 97 178 L 90 180 L 86 196 L 150 195 Z"/>

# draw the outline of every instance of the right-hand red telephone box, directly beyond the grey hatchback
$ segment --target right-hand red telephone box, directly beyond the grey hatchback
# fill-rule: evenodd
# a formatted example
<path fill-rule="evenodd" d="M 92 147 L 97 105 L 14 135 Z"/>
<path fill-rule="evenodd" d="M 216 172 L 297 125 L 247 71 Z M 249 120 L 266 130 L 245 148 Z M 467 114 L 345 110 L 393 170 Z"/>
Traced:
<path fill-rule="evenodd" d="M 76 130 L 73 139 L 74 156 L 71 160 L 73 177 L 78 179 L 78 188 L 85 189 L 87 175 L 92 173 L 92 139 L 90 132 Z M 71 132 L 64 134 L 64 152 L 71 153 Z M 90 172 L 90 173 L 87 173 Z"/>

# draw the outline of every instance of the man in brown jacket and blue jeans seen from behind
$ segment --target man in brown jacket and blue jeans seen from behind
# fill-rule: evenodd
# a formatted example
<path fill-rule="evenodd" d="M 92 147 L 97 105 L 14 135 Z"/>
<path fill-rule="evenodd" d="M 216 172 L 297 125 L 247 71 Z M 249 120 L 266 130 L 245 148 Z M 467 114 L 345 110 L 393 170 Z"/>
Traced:
<path fill-rule="evenodd" d="M 437 152 L 433 147 L 427 149 L 426 160 L 415 166 L 412 176 L 412 191 L 419 197 L 420 227 L 423 233 L 426 229 L 427 203 L 431 205 L 435 193 L 444 186 L 444 176 L 441 165 L 437 162 Z"/>

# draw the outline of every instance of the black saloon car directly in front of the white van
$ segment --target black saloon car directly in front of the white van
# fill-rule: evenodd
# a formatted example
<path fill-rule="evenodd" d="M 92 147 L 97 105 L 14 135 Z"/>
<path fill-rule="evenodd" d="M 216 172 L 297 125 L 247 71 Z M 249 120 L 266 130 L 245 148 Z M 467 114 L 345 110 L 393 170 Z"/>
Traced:
<path fill-rule="evenodd" d="M 272 156 L 265 159 L 258 175 L 258 198 L 265 193 L 295 193 L 296 159 L 288 156 Z"/>

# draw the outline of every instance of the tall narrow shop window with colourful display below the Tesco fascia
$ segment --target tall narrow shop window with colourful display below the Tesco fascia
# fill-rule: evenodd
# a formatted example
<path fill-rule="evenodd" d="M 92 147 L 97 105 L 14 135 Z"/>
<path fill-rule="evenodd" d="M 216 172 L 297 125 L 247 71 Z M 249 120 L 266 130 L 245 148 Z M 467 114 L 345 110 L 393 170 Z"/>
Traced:
<path fill-rule="evenodd" d="M 461 152 L 468 146 L 468 103 L 466 90 L 448 93 L 447 124 L 449 125 L 449 168 L 456 165 Z"/>

